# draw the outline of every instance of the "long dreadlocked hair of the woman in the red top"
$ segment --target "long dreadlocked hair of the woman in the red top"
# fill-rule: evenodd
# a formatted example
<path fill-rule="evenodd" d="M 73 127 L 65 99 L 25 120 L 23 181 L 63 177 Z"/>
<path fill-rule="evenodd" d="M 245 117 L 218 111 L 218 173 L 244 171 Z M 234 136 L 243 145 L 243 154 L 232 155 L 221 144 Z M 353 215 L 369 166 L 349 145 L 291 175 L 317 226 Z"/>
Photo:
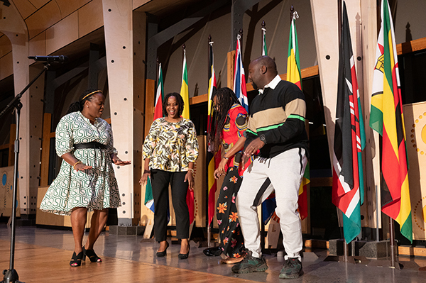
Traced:
<path fill-rule="evenodd" d="M 208 138 L 210 145 L 212 145 L 213 152 L 217 152 L 222 143 L 222 129 L 225 126 L 228 111 L 234 104 L 240 104 L 240 102 L 236 98 L 234 91 L 229 89 L 229 87 L 222 87 L 221 89 L 218 89 L 216 93 L 213 94 L 212 101 L 214 97 L 217 98 L 217 104 L 219 104 L 219 107 L 218 110 L 213 111 L 213 107 L 210 110 L 213 113 L 210 113 L 212 119 L 209 125 Z"/>

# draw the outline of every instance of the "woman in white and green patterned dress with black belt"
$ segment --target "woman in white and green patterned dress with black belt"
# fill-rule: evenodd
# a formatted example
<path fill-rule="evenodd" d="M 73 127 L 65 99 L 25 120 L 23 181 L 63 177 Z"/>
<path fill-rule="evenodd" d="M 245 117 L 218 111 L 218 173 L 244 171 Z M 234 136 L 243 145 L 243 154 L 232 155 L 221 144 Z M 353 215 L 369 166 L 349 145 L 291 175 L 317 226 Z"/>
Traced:
<path fill-rule="evenodd" d="M 40 204 L 42 211 L 71 216 L 75 242 L 72 267 L 80 266 L 86 256 L 91 262 L 102 261 L 93 245 L 107 223 L 108 209 L 121 206 L 112 162 L 130 164 L 117 157 L 111 126 L 100 118 L 104 102 L 102 91 L 88 89 L 60 119 L 55 138 L 62 164 Z M 94 213 L 89 237 L 82 246 L 87 211 Z"/>

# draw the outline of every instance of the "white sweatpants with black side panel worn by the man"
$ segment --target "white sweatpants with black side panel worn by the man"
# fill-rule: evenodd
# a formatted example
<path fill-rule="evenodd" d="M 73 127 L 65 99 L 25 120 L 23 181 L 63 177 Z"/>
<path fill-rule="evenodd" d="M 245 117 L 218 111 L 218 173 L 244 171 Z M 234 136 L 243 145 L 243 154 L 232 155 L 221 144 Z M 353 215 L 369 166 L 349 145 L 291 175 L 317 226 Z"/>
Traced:
<path fill-rule="evenodd" d="M 305 149 L 293 148 L 272 158 L 257 157 L 244 172 L 241 188 L 236 196 L 244 245 L 253 257 L 261 257 L 261 232 L 256 206 L 275 189 L 277 213 L 283 233 L 283 244 L 288 257 L 300 257 L 302 227 L 297 212 L 300 183 L 305 172 Z M 268 180 L 271 185 L 268 186 Z"/>

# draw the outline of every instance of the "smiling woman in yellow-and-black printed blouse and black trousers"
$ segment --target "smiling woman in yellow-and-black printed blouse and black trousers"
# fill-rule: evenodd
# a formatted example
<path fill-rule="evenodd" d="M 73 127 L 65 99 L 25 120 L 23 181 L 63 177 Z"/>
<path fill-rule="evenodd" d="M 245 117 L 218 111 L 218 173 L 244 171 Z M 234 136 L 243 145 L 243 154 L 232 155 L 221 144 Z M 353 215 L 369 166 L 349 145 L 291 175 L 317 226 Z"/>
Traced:
<path fill-rule="evenodd" d="M 164 257 L 167 242 L 168 187 L 172 188 L 172 202 L 176 215 L 177 237 L 181 240 L 179 258 L 190 253 L 190 215 L 186 204 L 188 187 L 194 187 L 194 163 L 198 157 L 197 133 L 192 121 L 182 118 L 183 99 L 180 94 L 166 94 L 163 115 L 151 124 L 143 143 L 145 168 L 141 184 L 151 177 L 154 198 L 155 240 L 160 243 L 157 257 Z"/>

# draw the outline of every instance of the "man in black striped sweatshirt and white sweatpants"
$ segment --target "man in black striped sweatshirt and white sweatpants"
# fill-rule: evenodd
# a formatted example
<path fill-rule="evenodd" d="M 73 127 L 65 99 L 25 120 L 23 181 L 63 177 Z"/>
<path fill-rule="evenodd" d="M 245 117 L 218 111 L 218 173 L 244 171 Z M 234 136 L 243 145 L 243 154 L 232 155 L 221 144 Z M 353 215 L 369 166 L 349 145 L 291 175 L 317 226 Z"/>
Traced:
<path fill-rule="evenodd" d="M 232 267 L 232 271 L 248 273 L 268 269 L 261 254 L 257 206 L 275 189 L 275 212 L 280 217 L 287 253 L 280 278 L 295 279 L 303 274 L 299 254 L 302 228 L 297 199 L 309 149 L 305 131 L 305 95 L 295 84 L 280 79 L 275 62 L 268 56 L 251 61 L 249 79 L 259 94 L 250 106 L 243 164 L 258 150 L 260 153 L 244 172 L 236 197 L 247 255 Z"/>

